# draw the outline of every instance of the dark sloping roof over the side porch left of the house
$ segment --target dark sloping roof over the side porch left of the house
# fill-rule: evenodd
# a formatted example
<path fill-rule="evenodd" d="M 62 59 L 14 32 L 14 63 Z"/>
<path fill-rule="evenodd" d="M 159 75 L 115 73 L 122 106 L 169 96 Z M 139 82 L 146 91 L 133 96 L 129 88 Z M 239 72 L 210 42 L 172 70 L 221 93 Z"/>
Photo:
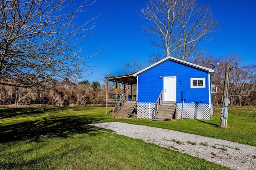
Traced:
<path fill-rule="evenodd" d="M 137 77 L 132 76 L 135 73 L 136 72 L 129 73 L 129 74 L 117 75 L 117 76 L 108 76 L 108 77 L 106 77 L 106 79 L 111 82 L 118 82 L 121 84 L 133 85 L 133 84 L 137 84 Z"/>

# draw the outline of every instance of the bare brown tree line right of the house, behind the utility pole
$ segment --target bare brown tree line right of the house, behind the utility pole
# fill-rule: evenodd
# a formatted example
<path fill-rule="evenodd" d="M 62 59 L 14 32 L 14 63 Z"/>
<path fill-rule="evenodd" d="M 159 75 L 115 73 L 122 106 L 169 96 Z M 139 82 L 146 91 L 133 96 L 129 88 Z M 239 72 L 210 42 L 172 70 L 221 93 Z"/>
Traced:
<path fill-rule="evenodd" d="M 212 55 L 194 59 L 195 64 L 209 68 L 215 65 L 215 82 L 217 93 L 213 94 L 214 106 L 221 106 L 224 89 L 225 69 L 229 64 L 234 66 L 230 69 L 228 98 L 230 106 L 256 106 L 256 65 L 242 66 L 240 56 L 234 53 L 223 57 L 214 58 Z"/>

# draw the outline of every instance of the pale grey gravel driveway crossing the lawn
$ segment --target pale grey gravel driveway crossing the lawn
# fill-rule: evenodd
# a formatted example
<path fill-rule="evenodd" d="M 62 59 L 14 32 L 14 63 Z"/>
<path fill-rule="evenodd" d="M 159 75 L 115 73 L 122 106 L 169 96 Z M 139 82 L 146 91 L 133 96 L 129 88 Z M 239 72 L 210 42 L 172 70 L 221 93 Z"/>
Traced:
<path fill-rule="evenodd" d="M 128 123 L 111 122 L 91 125 L 112 129 L 119 135 L 142 139 L 145 142 L 178 150 L 232 169 L 256 170 L 256 147 L 253 146 Z"/>

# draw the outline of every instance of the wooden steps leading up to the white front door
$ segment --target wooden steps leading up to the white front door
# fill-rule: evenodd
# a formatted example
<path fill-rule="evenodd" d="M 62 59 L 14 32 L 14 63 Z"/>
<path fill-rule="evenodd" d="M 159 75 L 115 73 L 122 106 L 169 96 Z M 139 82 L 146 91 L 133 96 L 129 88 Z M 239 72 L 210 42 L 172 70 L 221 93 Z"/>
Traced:
<path fill-rule="evenodd" d="M 155 115 L 154 120 L 172 120 L 176 111 L 176 102 L 164 101 Z"/>

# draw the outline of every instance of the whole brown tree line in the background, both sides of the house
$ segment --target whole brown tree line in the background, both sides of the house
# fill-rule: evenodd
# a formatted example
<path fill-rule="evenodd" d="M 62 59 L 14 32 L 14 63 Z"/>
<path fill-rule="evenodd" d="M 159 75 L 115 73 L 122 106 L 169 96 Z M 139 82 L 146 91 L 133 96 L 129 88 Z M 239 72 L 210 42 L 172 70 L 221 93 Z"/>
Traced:
<path fill-rule="evenodd" d="M 137 59 L 134 60 L 137 61 Z M 234 53 L 229 53 L 222 57 L 213 57 L 212 55 L 198 57 L 193 60 L 193 63 L 208 68 L 210 64 L 215 65 L 215 82 L 213 85 L 217 87 L 217 93 L 213 94 L 214 106 L 221 106 L 222 104 L 226 66 L 237 63 L 236 68 L 230 70 L 228 90 L 230 106 L 256 105 L 256 65 L 242 66 L 240 57 Z M 124 67 L 127 66 L 125 63 L 123 64 Z M 105 78 L 102 78 L 102 83 L 100 84 L 99 82 L 89 82 L 88 80 L 75 82 L 66 78 L 66 80 L 58 83 L 49 83 L 48 87 L 45 88 L 18 88 L 16 101 L 18 105 L 104 106 L 106 102 L 105 80 Z M 116 92 L 115 88 L 115 83 L 109 82 L 108 92 L 114 94 Z M 120 93 L 124 91 L 122 84 L 118 84 L 117 88 Z M 133 92 L 136 92 L 136 90 L 133 90 Z M 0 85 L 0 105 L 14 105 L 15 97 L 15 87 Z"/>

